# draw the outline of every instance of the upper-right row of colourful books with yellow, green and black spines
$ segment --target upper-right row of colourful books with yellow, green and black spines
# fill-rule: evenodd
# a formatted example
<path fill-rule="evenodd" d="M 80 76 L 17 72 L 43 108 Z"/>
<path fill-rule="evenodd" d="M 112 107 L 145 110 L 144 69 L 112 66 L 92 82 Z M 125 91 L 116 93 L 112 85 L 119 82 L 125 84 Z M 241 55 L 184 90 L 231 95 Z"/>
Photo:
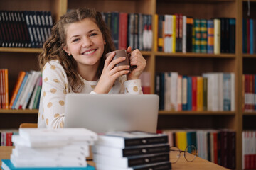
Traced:
<path fill-rule="evenodd" d="M 235 53 L 235 18 L 199 19 L 174 15 L 155 16 L 155 51 Z"/>

